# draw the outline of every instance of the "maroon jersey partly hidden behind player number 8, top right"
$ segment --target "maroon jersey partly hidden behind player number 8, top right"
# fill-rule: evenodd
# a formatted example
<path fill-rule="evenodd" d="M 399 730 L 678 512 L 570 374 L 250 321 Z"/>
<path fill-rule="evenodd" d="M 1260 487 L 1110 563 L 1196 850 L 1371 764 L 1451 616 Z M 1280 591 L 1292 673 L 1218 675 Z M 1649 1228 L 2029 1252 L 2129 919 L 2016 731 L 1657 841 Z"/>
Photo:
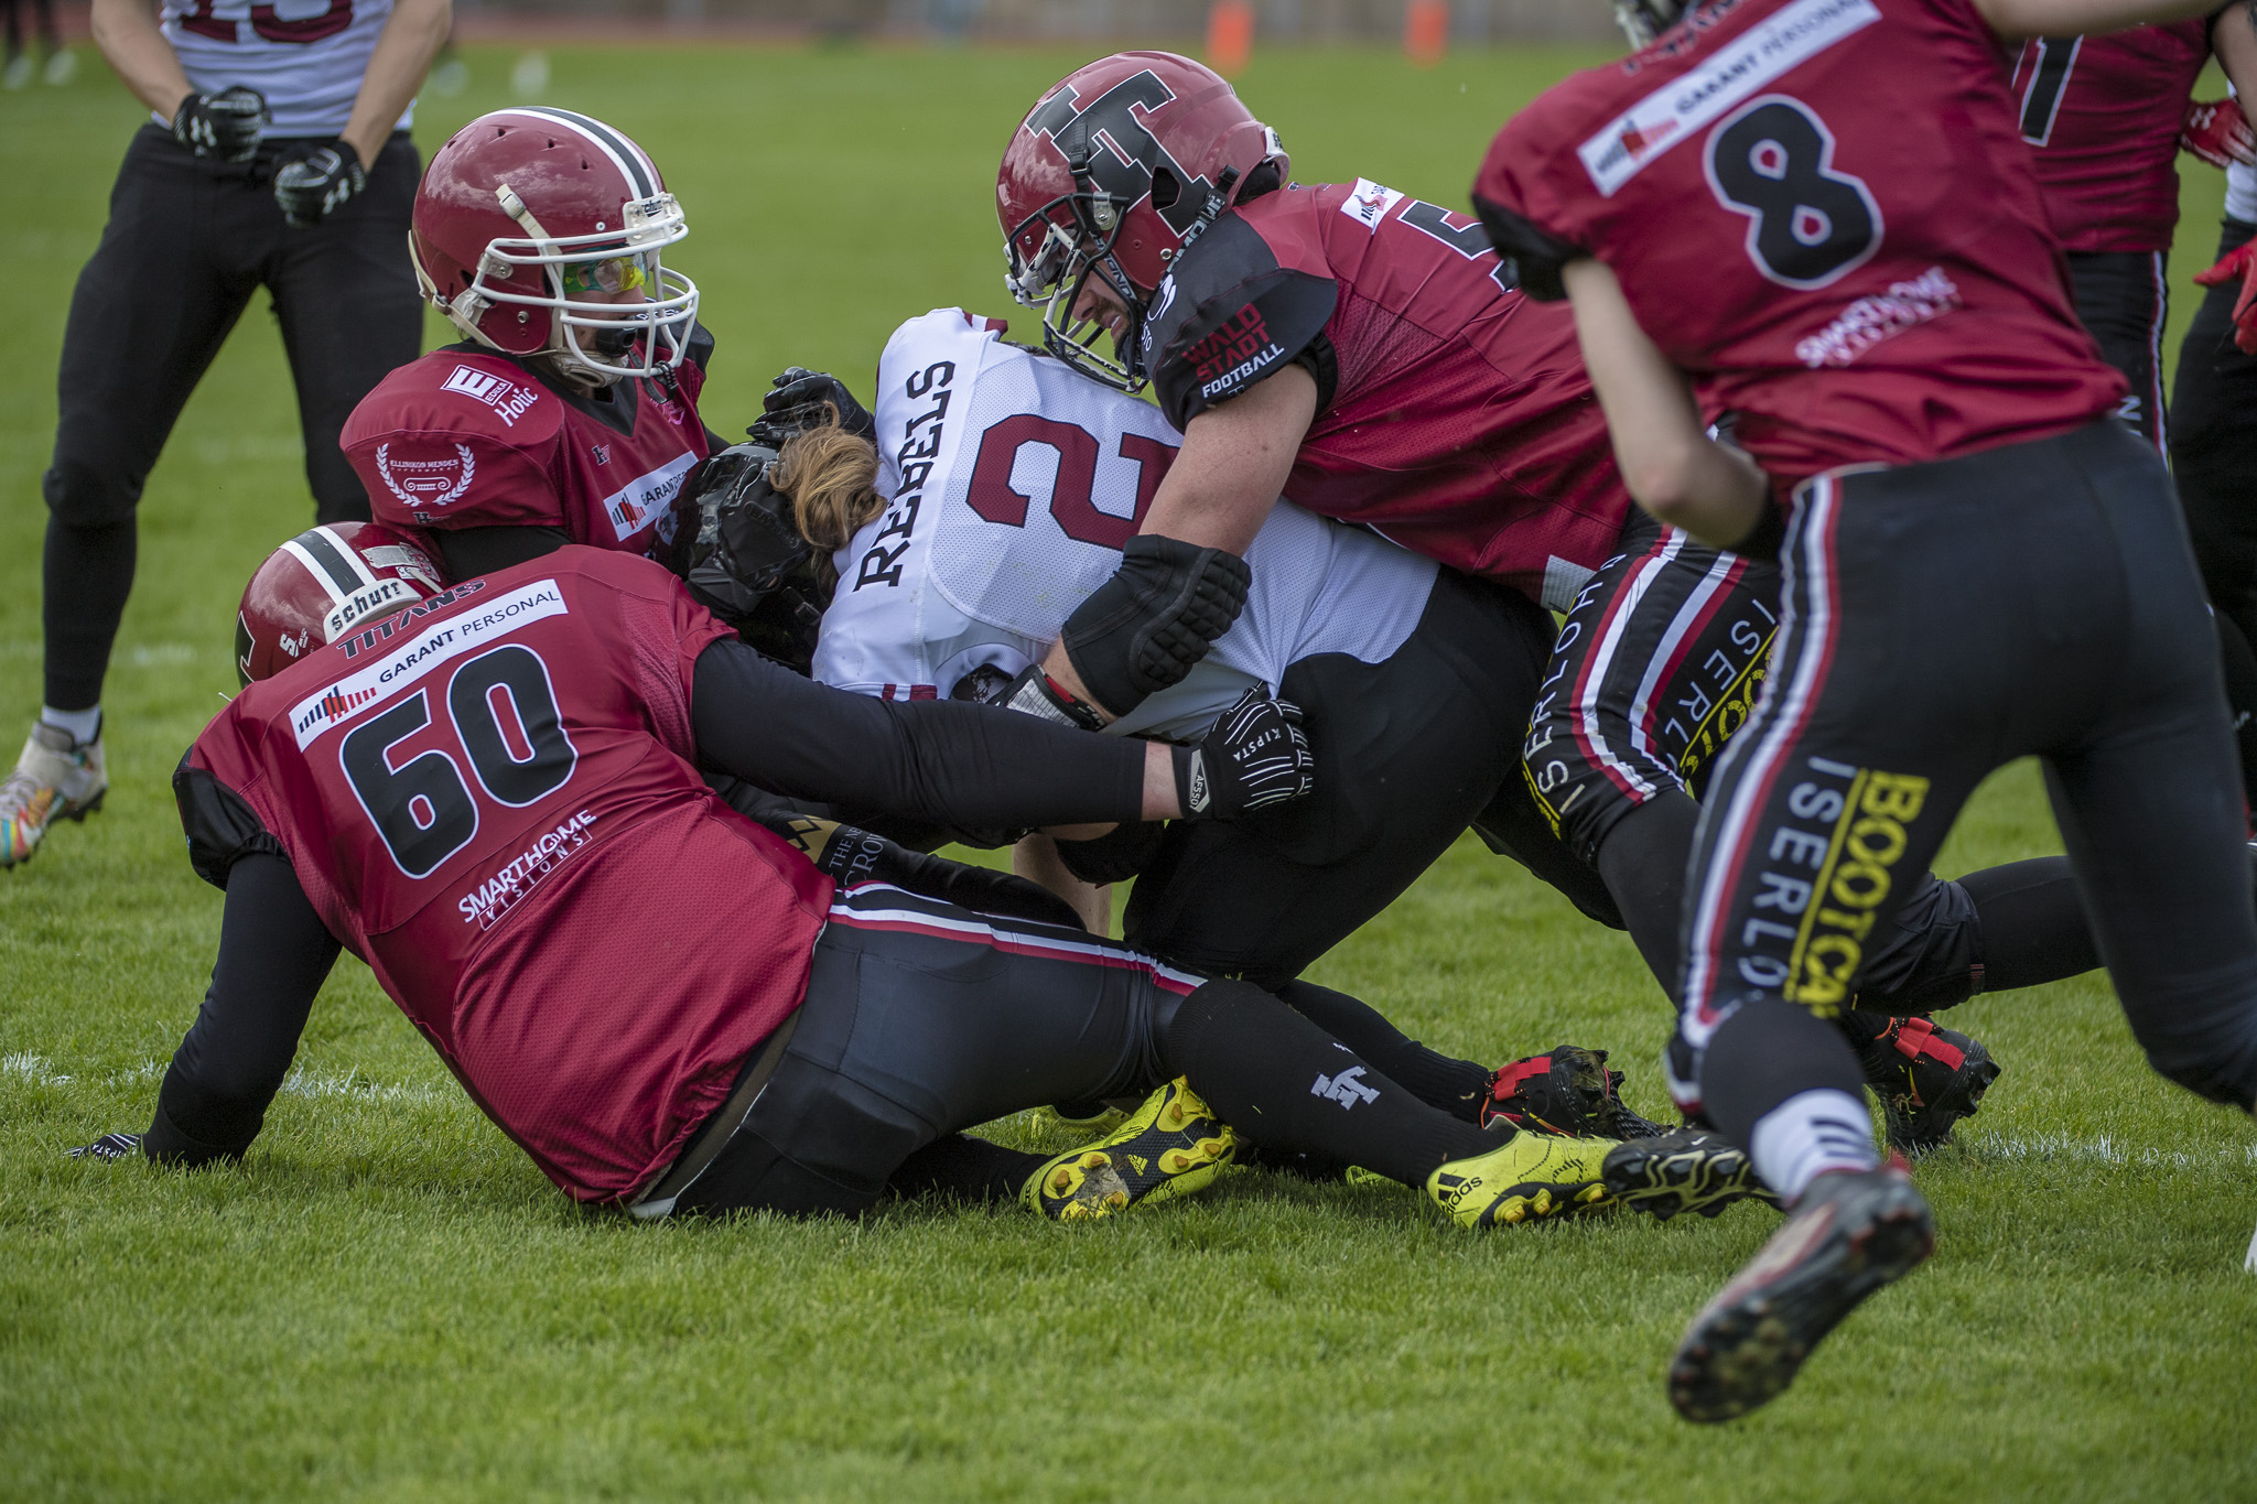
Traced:
<path fill-rule="evenodd" d="M 2013 97 L 2065 250 L 2171 248 L 2178 122 L 2207 61 L 2207 20 L 2022 43 Z"/>

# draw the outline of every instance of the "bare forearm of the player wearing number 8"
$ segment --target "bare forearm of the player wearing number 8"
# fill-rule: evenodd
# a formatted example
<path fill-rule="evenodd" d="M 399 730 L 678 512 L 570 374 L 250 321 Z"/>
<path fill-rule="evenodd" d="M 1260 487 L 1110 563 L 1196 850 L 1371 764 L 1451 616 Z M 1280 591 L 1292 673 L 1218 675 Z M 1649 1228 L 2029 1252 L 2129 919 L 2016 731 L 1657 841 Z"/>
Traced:
<path fill-rule="evenodd" d="M 1623 485 L 1663 523 L 1731 548 L 1763 516 L 1763 471 L 1709 440 L 1684 372 L 1639 327 L 1602 262 L 1569 262 L 1564 282 Z"/>

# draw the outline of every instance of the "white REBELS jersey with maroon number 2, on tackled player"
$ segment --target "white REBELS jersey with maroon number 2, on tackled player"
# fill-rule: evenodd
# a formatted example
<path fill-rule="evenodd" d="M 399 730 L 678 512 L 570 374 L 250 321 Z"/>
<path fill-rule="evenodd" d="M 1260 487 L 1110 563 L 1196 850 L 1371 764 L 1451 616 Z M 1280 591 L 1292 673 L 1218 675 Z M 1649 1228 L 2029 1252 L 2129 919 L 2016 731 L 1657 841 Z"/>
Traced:
<path fill-rule="evenodd" d="M 1018 674 L 1119 568 L 1183 435 L 961 309 L 912 318 L 878 363 L 882 516 L 835 557 L 815 676 L 885 699 Z M 1381 663 L 1417 627 L 1435 564 L 1280 501 L 1246 550 L 1246 613 L 1192 674 L 1113 724 L 1198 740 L 1253 685 L 1316 654 Z"/>

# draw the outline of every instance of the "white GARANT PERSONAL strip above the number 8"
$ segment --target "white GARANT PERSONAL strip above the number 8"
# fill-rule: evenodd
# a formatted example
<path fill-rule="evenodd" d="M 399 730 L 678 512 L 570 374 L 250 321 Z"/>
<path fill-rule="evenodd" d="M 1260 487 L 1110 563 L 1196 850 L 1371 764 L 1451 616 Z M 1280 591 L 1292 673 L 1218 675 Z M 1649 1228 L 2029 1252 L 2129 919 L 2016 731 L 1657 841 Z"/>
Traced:
<path fill-rule="evenodd" d="M 1727 43 L 1702 68 L 1639 99 L 1607 122 L 1607 129 L 1575 147 L 1575 156 L 1582 158 L 1582 169 L 1591 174 L 1598 194 L 1614 198 L 1657 156 L 1727 115 L 1742 99 L 1751 99 L 1772 79 L 1876 20 L 1880 9 L 1873 0 L 1794 0 Z"/>

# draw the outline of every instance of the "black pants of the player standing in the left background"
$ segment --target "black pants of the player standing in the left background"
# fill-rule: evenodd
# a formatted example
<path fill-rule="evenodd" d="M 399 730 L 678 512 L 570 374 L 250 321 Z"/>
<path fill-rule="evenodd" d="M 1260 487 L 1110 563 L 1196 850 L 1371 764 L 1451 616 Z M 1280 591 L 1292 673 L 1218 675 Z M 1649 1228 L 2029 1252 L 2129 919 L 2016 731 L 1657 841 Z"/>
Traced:
<path fill-rule="evenodd" d="M 108 225 L 70 298 L 54 465 L 41 483 L 50 512 L 45 697 L 59 710 L 102 699 L 133 586 L 142 483 L 260 286 L 273 298 L 298 388 L 316 519 L 368 516 L 368 494 L 336 437 L 361 397 L 422 350 L 406 255 L 420 162 L 406 133 L 395 133 L 359 198 L 320 225 L 291 230 L 273 174 L 309 144 L 271 140 L 253 162 L 226 165 L 149 124 L 117 169 Z"/>

